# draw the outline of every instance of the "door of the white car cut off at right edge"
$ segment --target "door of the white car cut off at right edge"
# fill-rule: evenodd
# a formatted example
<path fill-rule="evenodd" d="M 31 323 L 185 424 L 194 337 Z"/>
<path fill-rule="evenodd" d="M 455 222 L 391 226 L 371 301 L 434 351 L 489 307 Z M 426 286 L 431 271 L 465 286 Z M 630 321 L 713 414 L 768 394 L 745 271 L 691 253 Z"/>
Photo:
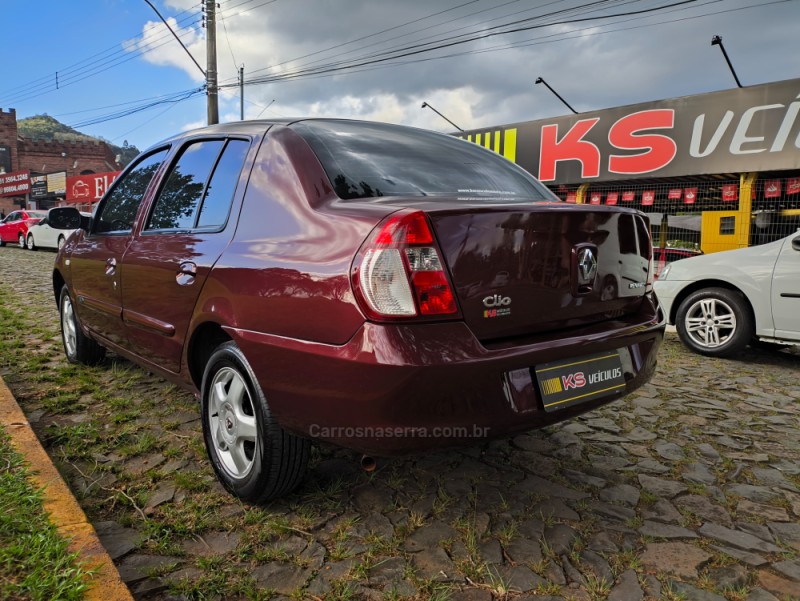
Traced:
<path fill-rule="evenodd" d="M 800 340 L 800 234 L 783 242 L 772 273 L 775 337 Z"/>

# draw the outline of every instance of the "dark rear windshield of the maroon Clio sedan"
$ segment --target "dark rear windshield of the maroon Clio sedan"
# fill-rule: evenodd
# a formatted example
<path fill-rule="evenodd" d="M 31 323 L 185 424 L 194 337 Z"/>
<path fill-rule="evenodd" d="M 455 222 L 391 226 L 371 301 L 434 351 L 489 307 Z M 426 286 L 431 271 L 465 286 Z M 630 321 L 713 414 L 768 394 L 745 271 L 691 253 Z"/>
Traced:
<path fill-rule="evenodd" d="M 481 203 L 559 199 L 527 171 L 472 142 L 359 121 L 304 121 L 308 142 L 339 198 L 456 197 Z"/>

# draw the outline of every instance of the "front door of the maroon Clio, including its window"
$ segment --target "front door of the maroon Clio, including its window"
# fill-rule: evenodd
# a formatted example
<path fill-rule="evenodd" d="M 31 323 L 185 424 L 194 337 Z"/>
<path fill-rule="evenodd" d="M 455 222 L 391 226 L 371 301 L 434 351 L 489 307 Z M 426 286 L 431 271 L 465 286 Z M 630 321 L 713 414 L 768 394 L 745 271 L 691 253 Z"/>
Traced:
<path fill-rule="evenodd" d="M 126 341 L 122 326 L 119 263 L 130 244 L 137 215 L 168 149 L 137 160 L 100 201 L 88 234 L 74 245 L 70 279 L 78 318 L 98 337 Z"/>

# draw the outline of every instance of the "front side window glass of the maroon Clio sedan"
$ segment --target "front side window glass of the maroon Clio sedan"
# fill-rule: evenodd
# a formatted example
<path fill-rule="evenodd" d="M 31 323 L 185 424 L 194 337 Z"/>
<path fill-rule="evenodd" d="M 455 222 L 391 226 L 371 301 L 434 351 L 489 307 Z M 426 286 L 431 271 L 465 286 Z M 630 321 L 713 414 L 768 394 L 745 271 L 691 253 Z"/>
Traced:
<path fill-rule="evenodd" d="M 95 216 L 93 227 L 95 233 L 131 231 L 136 211 L 142 203 L 150 181 L 164 162 L 167 150 L 165 148 L 142 158 L 133 169 L 116 182 Z"/>

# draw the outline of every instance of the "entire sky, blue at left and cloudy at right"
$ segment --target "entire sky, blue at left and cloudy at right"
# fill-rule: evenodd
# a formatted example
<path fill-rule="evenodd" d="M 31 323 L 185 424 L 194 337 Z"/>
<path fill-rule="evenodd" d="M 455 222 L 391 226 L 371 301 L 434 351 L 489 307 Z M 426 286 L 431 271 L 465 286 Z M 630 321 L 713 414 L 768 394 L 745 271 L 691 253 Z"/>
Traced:
<path fill-rule="evenodd" d="M 144 150 L 207 123 L 199 0 L 4 0 L 0 107 Z M 800 0 L 218 0 L 220 122 L 442 132 L 800 77 Z M 646 11 L 646 12 L 645 12 Z M 509 32 L 516 29 L 518 31 Z M 199 66 L 198 66 L 199 65 Z"/>

